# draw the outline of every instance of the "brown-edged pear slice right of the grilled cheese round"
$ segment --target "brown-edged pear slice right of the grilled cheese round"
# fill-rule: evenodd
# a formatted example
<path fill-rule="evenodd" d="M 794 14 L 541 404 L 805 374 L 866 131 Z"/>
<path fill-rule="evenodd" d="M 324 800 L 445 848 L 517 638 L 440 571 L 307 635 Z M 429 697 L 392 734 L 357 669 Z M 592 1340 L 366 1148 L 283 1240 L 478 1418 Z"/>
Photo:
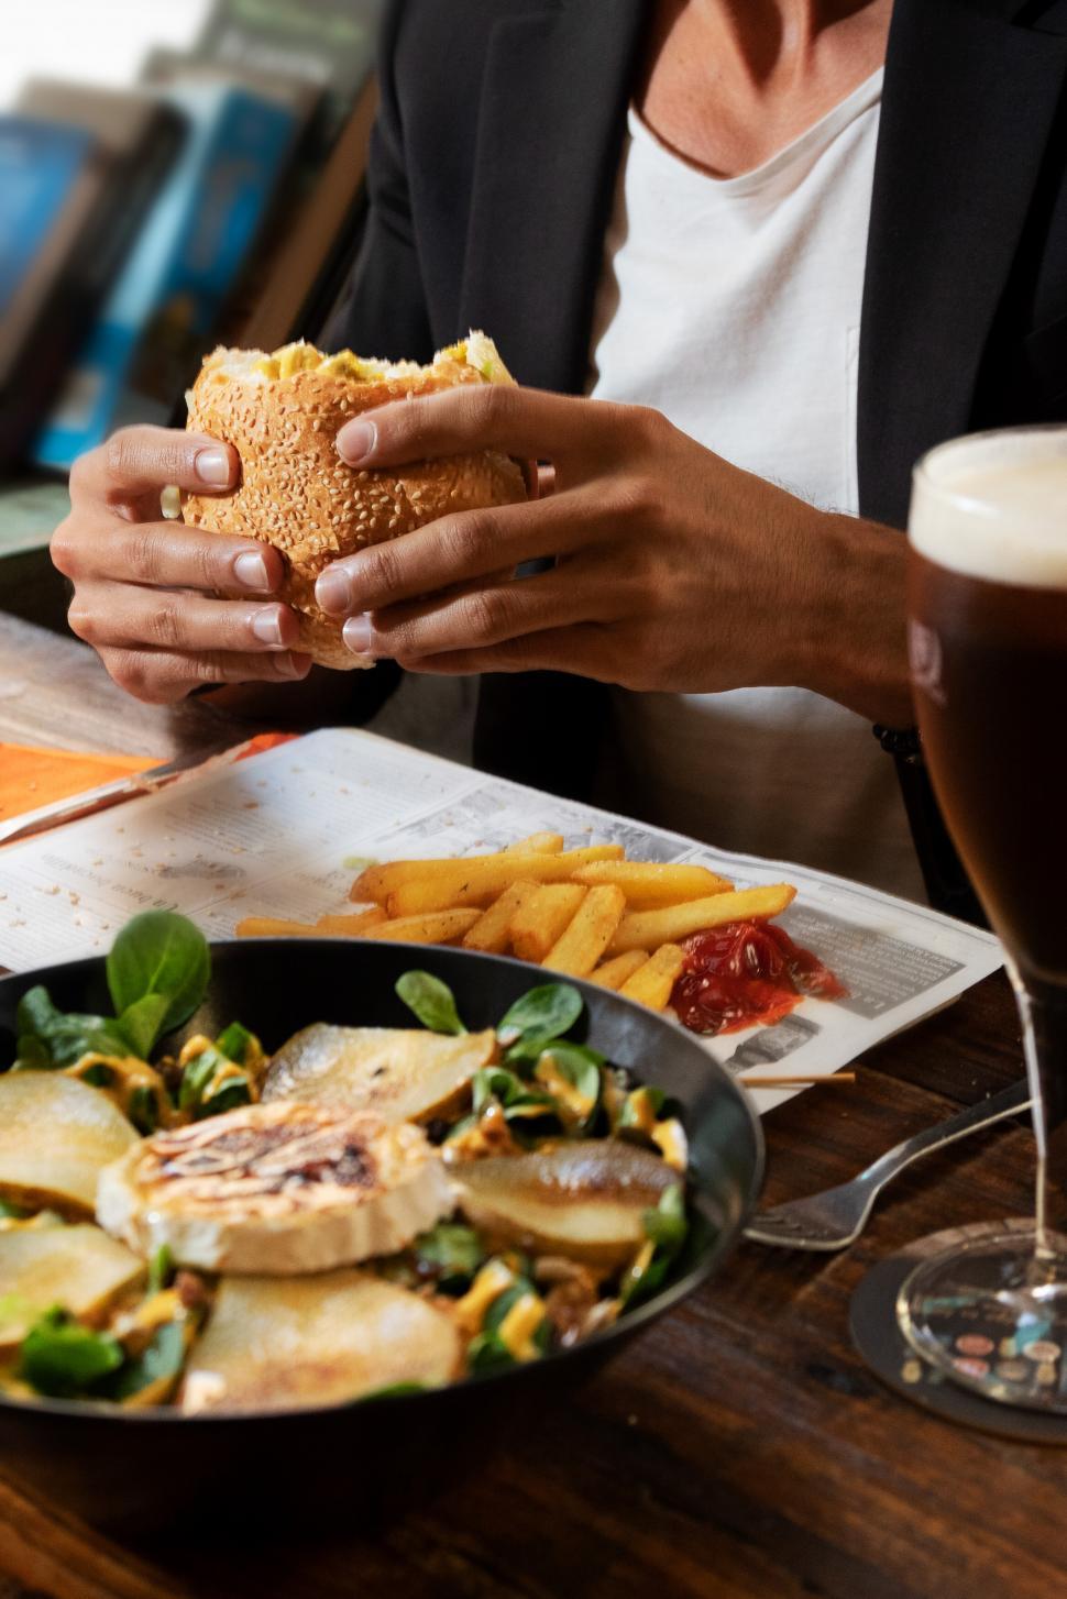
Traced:
<path fill-rule="evenodd" d="M 641 1215 L 678 1174 L 635 1143 L 574 1138 L 451 1167 L 459 1207 L 494 1246 L 617 1266 L 646 1239 Z"/>

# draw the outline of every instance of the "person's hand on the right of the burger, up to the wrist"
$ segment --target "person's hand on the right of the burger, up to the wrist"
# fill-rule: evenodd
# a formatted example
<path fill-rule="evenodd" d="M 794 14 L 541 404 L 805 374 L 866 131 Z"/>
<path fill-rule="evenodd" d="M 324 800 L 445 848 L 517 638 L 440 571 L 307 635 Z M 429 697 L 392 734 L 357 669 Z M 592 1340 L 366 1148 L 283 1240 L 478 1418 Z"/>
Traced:
<path fill-rule="evenodd" d="M 414 672 L 555 668 L 632 689 L 797 684 L 912 720 L 897 532 L 817 512 L 638 406 L 451 389 L 338 435 L 360 467 L 485 448 L 550 461 L 553 491 L 336 561 L 317 598 L 349 616 L 354 651 Z M 544 556 L 550 571 L 509 580 Z"/>

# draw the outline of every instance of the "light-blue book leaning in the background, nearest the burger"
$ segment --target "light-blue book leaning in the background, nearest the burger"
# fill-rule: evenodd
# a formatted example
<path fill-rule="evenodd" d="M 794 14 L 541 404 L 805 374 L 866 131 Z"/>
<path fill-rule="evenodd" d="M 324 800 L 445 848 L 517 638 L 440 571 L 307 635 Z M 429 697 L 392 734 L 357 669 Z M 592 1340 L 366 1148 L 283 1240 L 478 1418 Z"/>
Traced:
<path fill-rule="evenodd" d="M 42 467 L 170 417 L 291 152 L 293 112 L 245 88 L 179 83 L 163 98 L 189 122 L 186 147 L 34 441 Z"/>

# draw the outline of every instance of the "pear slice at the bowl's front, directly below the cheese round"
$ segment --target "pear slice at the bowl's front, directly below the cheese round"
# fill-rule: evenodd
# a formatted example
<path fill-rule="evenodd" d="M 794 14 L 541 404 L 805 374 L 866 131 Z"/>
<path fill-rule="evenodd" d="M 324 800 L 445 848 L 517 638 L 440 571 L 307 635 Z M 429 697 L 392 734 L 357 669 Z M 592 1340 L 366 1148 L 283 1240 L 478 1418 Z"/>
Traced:
<path fill-rule="evenodd" d="M 459 1364 L 453 1318 L 366 1271 L 222 1278 L 179 1404 L 186 1415 L 344 1404 L 397 1383 L 438 1388 Z"/>

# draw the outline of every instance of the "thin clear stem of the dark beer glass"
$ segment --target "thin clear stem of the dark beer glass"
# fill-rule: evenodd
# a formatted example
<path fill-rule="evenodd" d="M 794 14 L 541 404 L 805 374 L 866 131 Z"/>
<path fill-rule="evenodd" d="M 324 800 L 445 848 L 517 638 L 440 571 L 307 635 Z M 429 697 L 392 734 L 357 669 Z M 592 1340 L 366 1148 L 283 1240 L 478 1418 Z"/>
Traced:
<path fill-rule="evenodd" d="M 1037 1138 L 1037 1257 L 1067 1233 L 1067 988 L 1016 982 Z M 1062 1249 L 1062 1244 L 1061 1244 Z"/>

